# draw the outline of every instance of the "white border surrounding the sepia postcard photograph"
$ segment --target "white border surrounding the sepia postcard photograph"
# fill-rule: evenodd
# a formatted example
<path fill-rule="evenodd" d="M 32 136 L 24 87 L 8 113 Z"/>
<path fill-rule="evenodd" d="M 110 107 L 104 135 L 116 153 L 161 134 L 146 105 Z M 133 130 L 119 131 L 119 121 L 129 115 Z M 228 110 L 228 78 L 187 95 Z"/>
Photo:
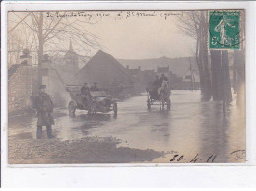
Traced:
<path fill-rule="evenodd" d="M 256 185 L 255 2 L 2 2 L 1 6 L 1 155 L 3 186 L 216 186 Z M 245 9 L 246 14 L 246 154 L 245 163 L 218 164 L 36 164 L 7 163 L 7 11 L 36 10 L 191 10 Z M 158 167 L 154 167 L 158 166 Z M 182 167 L 181 167 L 182 166 Z M 189 167 L 190 166 L 190 167 Z M 192 167 L 193 166 L 193 167 Z M 211 167 L 210 167 L 211 166 Z M 214 166 L 214 167 L 213 167 Z M 114 168 L 113 168 L 114 167 Z M 251 174 L 247 176 L 245 174 Z M 253 179 L 254 174 L 254 179 Z M 218 179 L 213 175 L 218 175 Z M 236 178 L 235 175 L 240 176 Z M 229 179 L 227 179 L 229 177 Z M 184 179 L 185 178 L 185 179 Z M 200 180 L 201 178 L 201 180 Z M 158 181 L 156 181 L 158 180 Z M 217 181 L 217 182 L 216 182 Z"/>

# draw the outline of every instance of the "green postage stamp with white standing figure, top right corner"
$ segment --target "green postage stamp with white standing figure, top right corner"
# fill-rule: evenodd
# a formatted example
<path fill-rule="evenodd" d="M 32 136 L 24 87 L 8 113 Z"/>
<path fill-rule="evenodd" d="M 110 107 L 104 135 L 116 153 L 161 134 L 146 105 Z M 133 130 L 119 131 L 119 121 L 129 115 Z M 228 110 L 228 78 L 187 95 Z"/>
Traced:
<path fill-rule="evenodd" d="M 209 49 L 240 49 L 239 11 L 209 11 Z"/>

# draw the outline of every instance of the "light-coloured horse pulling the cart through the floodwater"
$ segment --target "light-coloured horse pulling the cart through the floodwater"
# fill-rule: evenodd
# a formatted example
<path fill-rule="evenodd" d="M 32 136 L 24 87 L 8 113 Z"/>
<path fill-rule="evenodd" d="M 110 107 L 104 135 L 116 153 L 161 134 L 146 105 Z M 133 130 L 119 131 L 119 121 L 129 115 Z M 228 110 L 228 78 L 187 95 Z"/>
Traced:
<path fill-rule="evenodd" d="M 164 105 L 166 103 L 167 109 L 170 110 L 170 86 L 168 81 L 162 81 L 159 92 L 160 109 L 164 110 Z"/>

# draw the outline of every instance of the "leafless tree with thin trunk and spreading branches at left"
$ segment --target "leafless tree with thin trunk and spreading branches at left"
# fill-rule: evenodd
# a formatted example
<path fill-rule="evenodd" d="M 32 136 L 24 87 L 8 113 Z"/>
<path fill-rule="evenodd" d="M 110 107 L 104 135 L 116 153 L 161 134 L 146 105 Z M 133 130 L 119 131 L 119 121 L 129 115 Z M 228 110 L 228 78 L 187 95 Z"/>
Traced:
<path fill-rule="evenodd" d="M 59 12 L 56 13 L 59 16 Z M 61 12 L 61 15 L 66 13 Z M 63 50 L 63 41 L 70 38 L 85 53 L 99 46 L 96 35 L 87 30 L 87 26 L 95 24 L 96 21 L 88 18 L 80 20 L 78 17 L 50 17 L 51 12 L 11 12 L 10 14 L 18 19 L 9 32 L 18 32 L 22 26 L 26 26 L 31 31 L 30 48 L 35 49 L 38 58 L 38 85 L 42 81 L 41 63 L 45 51 Z"/>

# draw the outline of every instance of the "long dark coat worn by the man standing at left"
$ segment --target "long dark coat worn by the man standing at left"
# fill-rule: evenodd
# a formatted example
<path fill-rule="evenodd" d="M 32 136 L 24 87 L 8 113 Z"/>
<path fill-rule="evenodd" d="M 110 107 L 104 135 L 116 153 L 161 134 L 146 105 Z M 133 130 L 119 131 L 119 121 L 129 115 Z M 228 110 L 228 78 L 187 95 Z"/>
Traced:
<path fill-rule="evenodd" d="M 37 126 L 50 126 L 54 125 L 52 117 L 53 102 L 46 93 L 40 93 L 35 96 L 35 108 L 38 115 Z"/>

